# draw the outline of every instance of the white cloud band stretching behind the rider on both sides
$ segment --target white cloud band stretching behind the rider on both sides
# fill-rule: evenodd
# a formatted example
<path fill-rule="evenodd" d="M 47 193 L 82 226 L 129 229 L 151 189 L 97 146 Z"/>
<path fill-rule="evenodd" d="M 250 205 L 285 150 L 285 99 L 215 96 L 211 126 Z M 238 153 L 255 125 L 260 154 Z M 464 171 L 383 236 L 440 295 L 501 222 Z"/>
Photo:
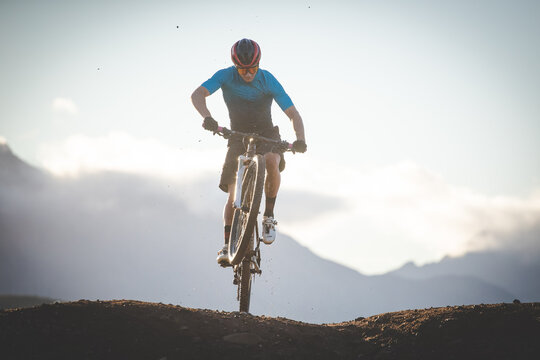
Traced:
<path fill-rule="evenodd" d="M 59 175 L 121 171 L 175 178 L 192 211 L 217 217 L 225 201 L 217 189 L 223 156 L 223 149 L 181 149 L 124 132 L 74 135 L 40 153 L 44 167 Z M 413 161 L 369 170 L 308 154 L 288 155 L 287 162 L 276 203 L 279 231 L 366 274 L 468 251 L 524 249 L 517 244 L 525 238 L 529 249 L 538 244 L 519 234 L 540 226 L 540 192 L 489 196 Z"/>

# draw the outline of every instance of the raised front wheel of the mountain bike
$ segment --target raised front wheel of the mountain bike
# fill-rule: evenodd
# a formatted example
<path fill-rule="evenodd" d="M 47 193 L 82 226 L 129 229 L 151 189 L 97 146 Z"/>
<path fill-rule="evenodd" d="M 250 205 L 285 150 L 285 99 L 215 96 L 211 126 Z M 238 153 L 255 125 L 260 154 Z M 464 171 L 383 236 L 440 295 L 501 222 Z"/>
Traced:
<path fill-rule="evenodd" d="M 233 215 L 229 241 L 229 262 L 232 265 L 240 264 L 251 240 L 261 205 L 264 174 L 264 157 L 256 155 L 244 172 L 241 208 L 235 209 Z"/>

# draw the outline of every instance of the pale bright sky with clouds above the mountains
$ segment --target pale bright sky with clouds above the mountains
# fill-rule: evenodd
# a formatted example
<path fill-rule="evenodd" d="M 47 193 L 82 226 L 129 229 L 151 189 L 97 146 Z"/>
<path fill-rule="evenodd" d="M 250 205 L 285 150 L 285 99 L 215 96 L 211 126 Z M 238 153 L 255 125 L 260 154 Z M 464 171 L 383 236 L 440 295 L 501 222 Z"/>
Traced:
<path fill-rule="evenodd" d="M 56 176 L 217 182 L 224 142 L 190 95 L 252 38 L 306 129 L 279 230 L 366 274 L 437 261 L 540 222 L 539 15 L 528 0 L 2 1 L 0 137 Z M 220 91 L 208 106 L 227 125 Z"/>

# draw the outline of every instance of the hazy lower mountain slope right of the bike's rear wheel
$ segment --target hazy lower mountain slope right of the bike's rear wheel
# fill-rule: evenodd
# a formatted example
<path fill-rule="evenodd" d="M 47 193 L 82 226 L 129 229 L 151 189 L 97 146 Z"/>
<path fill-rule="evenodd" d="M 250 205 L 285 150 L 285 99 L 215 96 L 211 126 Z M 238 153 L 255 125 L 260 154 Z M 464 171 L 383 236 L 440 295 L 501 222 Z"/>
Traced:
<path fill-rule="evenodd" d="M 418 280 L 365 276 L 319 258 L 292 239 L 283 240 L 279 247 L 264 249 L 268 264 L 263 269 L 268 270 L 263 271 L 261 281 L 271 286 L 259 288 L 256 282 L 256 313 L 279 315 L 268 310 L 285 309 L 294 319 L 328 322 L 402 309 L 510 302 L 514 298 L 472 276 Z"/>

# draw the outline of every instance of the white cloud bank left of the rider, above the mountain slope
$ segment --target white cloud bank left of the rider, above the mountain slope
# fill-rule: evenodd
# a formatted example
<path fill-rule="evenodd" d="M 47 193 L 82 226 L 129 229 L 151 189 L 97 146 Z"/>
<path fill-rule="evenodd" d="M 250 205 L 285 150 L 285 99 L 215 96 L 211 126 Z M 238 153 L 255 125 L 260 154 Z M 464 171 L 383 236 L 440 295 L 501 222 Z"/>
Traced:
<path fill-rule="evenodd" d="M 43 167 L 58 176 L 119 171 L 184 180 L 217 172 L 223 161 L 222 152 L 216 150 L 175 148 L 120 131 L 99 137 L 72 135 L 43 145 L 38 157 Z"/>

